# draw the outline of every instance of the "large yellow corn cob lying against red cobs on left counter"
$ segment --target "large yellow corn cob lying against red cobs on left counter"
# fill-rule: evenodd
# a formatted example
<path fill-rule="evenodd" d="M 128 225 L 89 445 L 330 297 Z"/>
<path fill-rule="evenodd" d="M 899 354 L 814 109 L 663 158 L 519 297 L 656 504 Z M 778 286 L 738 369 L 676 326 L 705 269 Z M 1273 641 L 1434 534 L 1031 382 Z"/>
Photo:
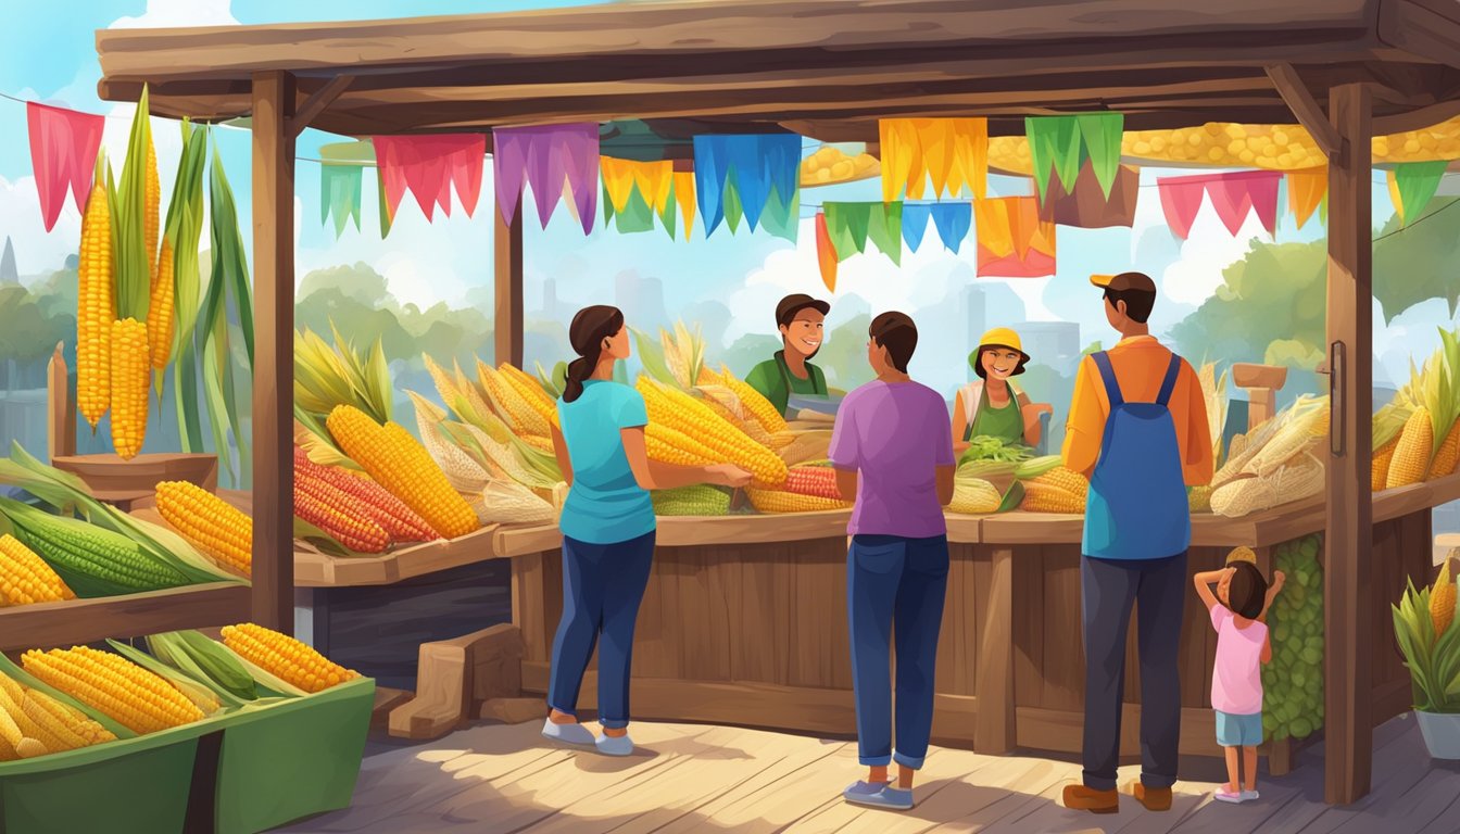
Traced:
<path fill-rule="evenodd" d="M 406 429 L 396 424 L 383 428 L 365 412 L 343 405 L 330 412 L 326 425 L 345 454 L 441 536 L 456 539 L 480 527 L 476 511 Z"/>

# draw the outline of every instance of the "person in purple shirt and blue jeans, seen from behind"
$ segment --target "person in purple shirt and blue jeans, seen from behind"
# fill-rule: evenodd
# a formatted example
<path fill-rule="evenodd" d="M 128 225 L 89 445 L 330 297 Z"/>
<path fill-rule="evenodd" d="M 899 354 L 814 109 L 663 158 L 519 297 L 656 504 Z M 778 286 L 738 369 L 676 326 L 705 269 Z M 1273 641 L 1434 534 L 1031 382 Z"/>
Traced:
<path fill-rule="evenodd" d="M 942 394 L 908 377 L 917 326 L 902 313 L 872 321 L 867 361 L 877 378 L 837 410 L 831 462 L 856 501 L 847 549 L 847 615 L 857 701 L 857 752 L 869 770 L 842 797 L 912 808 L 912 774 L 933 729 L 933 662 L 948 590 L 953 440 Z M 889 637 L 896 632 L 896 751 L 892 749 Z M 898 762 L 898 780 L 888 765 Z"/>

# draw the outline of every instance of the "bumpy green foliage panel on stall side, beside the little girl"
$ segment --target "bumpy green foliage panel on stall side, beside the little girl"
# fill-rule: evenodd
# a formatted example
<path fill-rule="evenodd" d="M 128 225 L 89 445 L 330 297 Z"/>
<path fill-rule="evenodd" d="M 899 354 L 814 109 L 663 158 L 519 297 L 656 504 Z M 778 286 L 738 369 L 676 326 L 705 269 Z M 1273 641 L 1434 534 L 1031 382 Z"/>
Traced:
<path fill-rule="evenodd" d="M 1273 551 L 1273 570 L 1288 577 L 1267 612 L 1273 662 L 1263 666 L 1263 730 L 1276 741 L 1323 727 L 1321 545 L 1313 535 Z"/>

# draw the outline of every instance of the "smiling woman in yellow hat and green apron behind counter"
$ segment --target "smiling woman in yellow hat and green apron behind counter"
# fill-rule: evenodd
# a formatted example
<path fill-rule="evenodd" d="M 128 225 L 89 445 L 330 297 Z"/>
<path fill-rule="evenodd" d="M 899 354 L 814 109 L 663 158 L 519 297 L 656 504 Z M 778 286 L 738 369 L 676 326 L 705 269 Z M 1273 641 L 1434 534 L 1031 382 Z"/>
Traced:
<path fill-rule="evenodd" d="M 1019 334 L 1009 327 L 994 327 L 978 340 L 968 364 L 978 378 L 959 389 L 953 403 L 953 451 L 962 454 L 975 437 L 1038 445 L 1040 415 L 1054 413 L 1054 408 L 1031 403 L 1029 396 L 1009 381 L 1029 364 Z"/>

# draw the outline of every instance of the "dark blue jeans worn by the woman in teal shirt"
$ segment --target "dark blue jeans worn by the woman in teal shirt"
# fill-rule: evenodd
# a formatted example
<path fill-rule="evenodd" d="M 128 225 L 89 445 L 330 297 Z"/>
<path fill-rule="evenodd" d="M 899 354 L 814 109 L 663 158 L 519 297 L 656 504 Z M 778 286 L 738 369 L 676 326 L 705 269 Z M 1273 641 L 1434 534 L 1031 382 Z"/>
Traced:
<path fill-rule="evenodd" d="M 583 673 L 597 644 L 599 723 L 629 726 L 634 622 L 653 561 L 654 533 L 613 545 L 562 537 L 562 619 L 552 644 L 549 707 L 577 714 Z"/>

